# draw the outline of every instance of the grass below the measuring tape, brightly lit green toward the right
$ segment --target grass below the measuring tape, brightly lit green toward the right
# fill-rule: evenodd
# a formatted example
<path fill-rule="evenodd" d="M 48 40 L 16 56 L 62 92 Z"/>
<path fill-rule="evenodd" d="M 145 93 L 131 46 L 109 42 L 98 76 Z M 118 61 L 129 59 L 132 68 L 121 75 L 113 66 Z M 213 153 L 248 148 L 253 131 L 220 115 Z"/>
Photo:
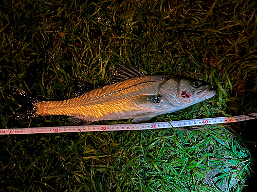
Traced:
<path fill-rule="evenodd" d="M 3 183 L 13 190 L 241 191 L 251 155 L 225 128 L 11 136 L 2 141 L 10 149 Z"/>

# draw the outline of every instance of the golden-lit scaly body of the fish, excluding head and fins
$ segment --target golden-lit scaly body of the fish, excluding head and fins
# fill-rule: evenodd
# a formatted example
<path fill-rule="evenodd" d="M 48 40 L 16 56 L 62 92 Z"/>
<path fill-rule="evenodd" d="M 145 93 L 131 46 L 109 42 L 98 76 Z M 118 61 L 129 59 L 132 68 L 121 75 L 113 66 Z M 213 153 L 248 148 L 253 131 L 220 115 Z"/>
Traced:
<path fill-rule="evenodd" d="M 63 101 L 39 101 L 36 112 L 40 116 L 67 115 L 87 121 L 125 119 L 132 115 L 154 112 L 153 103 L 135 103 L 135 95 L 158 95 L 159 85 L 167 75 L 145 75 L 109 84 L 76 98 Z"/>

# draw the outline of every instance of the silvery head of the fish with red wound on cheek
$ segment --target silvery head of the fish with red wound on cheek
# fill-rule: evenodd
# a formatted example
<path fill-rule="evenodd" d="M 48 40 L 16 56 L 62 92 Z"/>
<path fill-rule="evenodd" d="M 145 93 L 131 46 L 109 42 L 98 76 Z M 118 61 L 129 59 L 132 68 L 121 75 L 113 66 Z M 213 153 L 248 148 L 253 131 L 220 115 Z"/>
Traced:
<path fill-rule="evenodd" d="M 190 106 L 216 95 L 215 90 L 210 90 L 211 85 L 204 81 L 180 79 L 176 99 L 179 103 Z"/>

